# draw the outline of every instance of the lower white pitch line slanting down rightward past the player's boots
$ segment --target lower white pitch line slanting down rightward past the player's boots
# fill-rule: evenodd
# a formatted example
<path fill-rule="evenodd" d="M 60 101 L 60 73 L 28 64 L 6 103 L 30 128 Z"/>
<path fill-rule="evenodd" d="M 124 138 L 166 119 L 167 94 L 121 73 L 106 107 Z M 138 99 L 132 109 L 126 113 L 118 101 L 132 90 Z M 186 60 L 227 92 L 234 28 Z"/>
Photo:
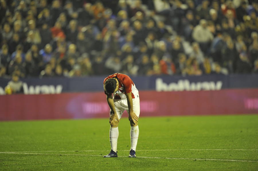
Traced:
<path fill-rule="evenodd" d="M 61 156 L 101 156 L 101 155 L 87 155 L 87 154 L 44 154 L 44 153 L 19 153 L 19 152 L 5 152 L 5 153 L 6 154 L 61 155 Z M 128 157 L 128 156 L 119 156 L 119 157 Z M 141 156 L 137 158 L 174 159 L 174 160 L 212 160 L 212 161 L 227 161 L 227 162 L 258 162 L 258 161 L 252 161 L 252 160 L 230 160 L 230 159 L 213 159 L 213 158 L 167 158 L 167 157 L 141 157 Z"/>

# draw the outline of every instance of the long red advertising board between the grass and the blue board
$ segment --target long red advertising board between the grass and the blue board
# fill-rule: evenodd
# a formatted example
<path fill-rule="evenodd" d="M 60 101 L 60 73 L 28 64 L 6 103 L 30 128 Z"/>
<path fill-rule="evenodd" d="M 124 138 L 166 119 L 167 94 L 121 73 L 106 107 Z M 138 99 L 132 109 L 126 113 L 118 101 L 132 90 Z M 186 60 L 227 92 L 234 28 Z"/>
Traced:
<path fill-rule="evenodd" d="M 258 113 L 258 89 L 141 91 L 140 107 L 140 116 Z M 108 116 L 103 92 L 0 96 L 0 120 Z"/>

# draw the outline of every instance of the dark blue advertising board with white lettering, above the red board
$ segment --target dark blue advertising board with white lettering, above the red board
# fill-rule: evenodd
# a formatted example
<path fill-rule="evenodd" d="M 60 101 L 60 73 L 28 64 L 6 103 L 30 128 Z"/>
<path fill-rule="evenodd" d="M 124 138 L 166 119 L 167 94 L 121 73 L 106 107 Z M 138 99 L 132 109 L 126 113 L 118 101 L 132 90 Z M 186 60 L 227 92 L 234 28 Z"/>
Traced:
<path fill-rule="evenodd" d="M 59 94 L 61 92 L 103 91 L 106 76 L 77 78 L 27 78 L 21 79 L 25 94 Z M 258 88 L 257 74 L 202 75 L 202 76 L 137 76 L 131 77 L 138 90 L 197 91 L 225 88 Z M 0 78 L 0 94 L 9 79 Z"/>

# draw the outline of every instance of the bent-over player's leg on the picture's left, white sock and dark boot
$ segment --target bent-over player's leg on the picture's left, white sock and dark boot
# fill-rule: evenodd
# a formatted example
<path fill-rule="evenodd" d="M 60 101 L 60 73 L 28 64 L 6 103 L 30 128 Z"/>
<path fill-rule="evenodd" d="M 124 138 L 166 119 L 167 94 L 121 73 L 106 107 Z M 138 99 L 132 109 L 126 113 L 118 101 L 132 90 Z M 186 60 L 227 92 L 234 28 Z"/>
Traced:
<path fill-rule="evenodd" d="M 118 105 L 116 105 L 115 102 L 115 108 L 116 108 L 116 113 L 118 115 L 118 119 L 122 117 L 123 111 L 119 108 Z M 110 110 L 110 116 L 112 115 L 112 111 Z M 112 122 L 112 125 L 110 125 L 110 130 L 109 130 L 109 139 L 110 139 L 110 145 L 111 145 L 111 151 L 109 154 L 105 155 L 104 157 L 117 157 L 117 140 L 119 136 L 119 131 L 118 131 L 118 120 L 115 120 Z"/>

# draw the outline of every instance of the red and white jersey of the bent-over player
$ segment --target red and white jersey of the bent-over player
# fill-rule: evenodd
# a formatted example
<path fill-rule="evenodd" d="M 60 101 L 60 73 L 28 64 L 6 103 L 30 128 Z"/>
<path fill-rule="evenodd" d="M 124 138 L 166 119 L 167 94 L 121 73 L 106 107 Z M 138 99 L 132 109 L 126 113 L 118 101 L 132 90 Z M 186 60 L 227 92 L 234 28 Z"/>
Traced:
<path fill-rule="evenodd" d="M 114 93 L 115 99 L 126 99 L 125 94 L 129 92 L 132 92 L 132 98 L 134 98 L 134 96 L 139 96 L 139 92 L 134 82 L 128 75 L 120 74 L 120 73 L 112 74 L 104 79 L 103 84 L 107 79 L 110 79 L 110 78 L 118 79 L 118 83 L 119 83 L 119 89 Z M 107 92 L 105 92 L 105 94 L 109 95 Z"/>

